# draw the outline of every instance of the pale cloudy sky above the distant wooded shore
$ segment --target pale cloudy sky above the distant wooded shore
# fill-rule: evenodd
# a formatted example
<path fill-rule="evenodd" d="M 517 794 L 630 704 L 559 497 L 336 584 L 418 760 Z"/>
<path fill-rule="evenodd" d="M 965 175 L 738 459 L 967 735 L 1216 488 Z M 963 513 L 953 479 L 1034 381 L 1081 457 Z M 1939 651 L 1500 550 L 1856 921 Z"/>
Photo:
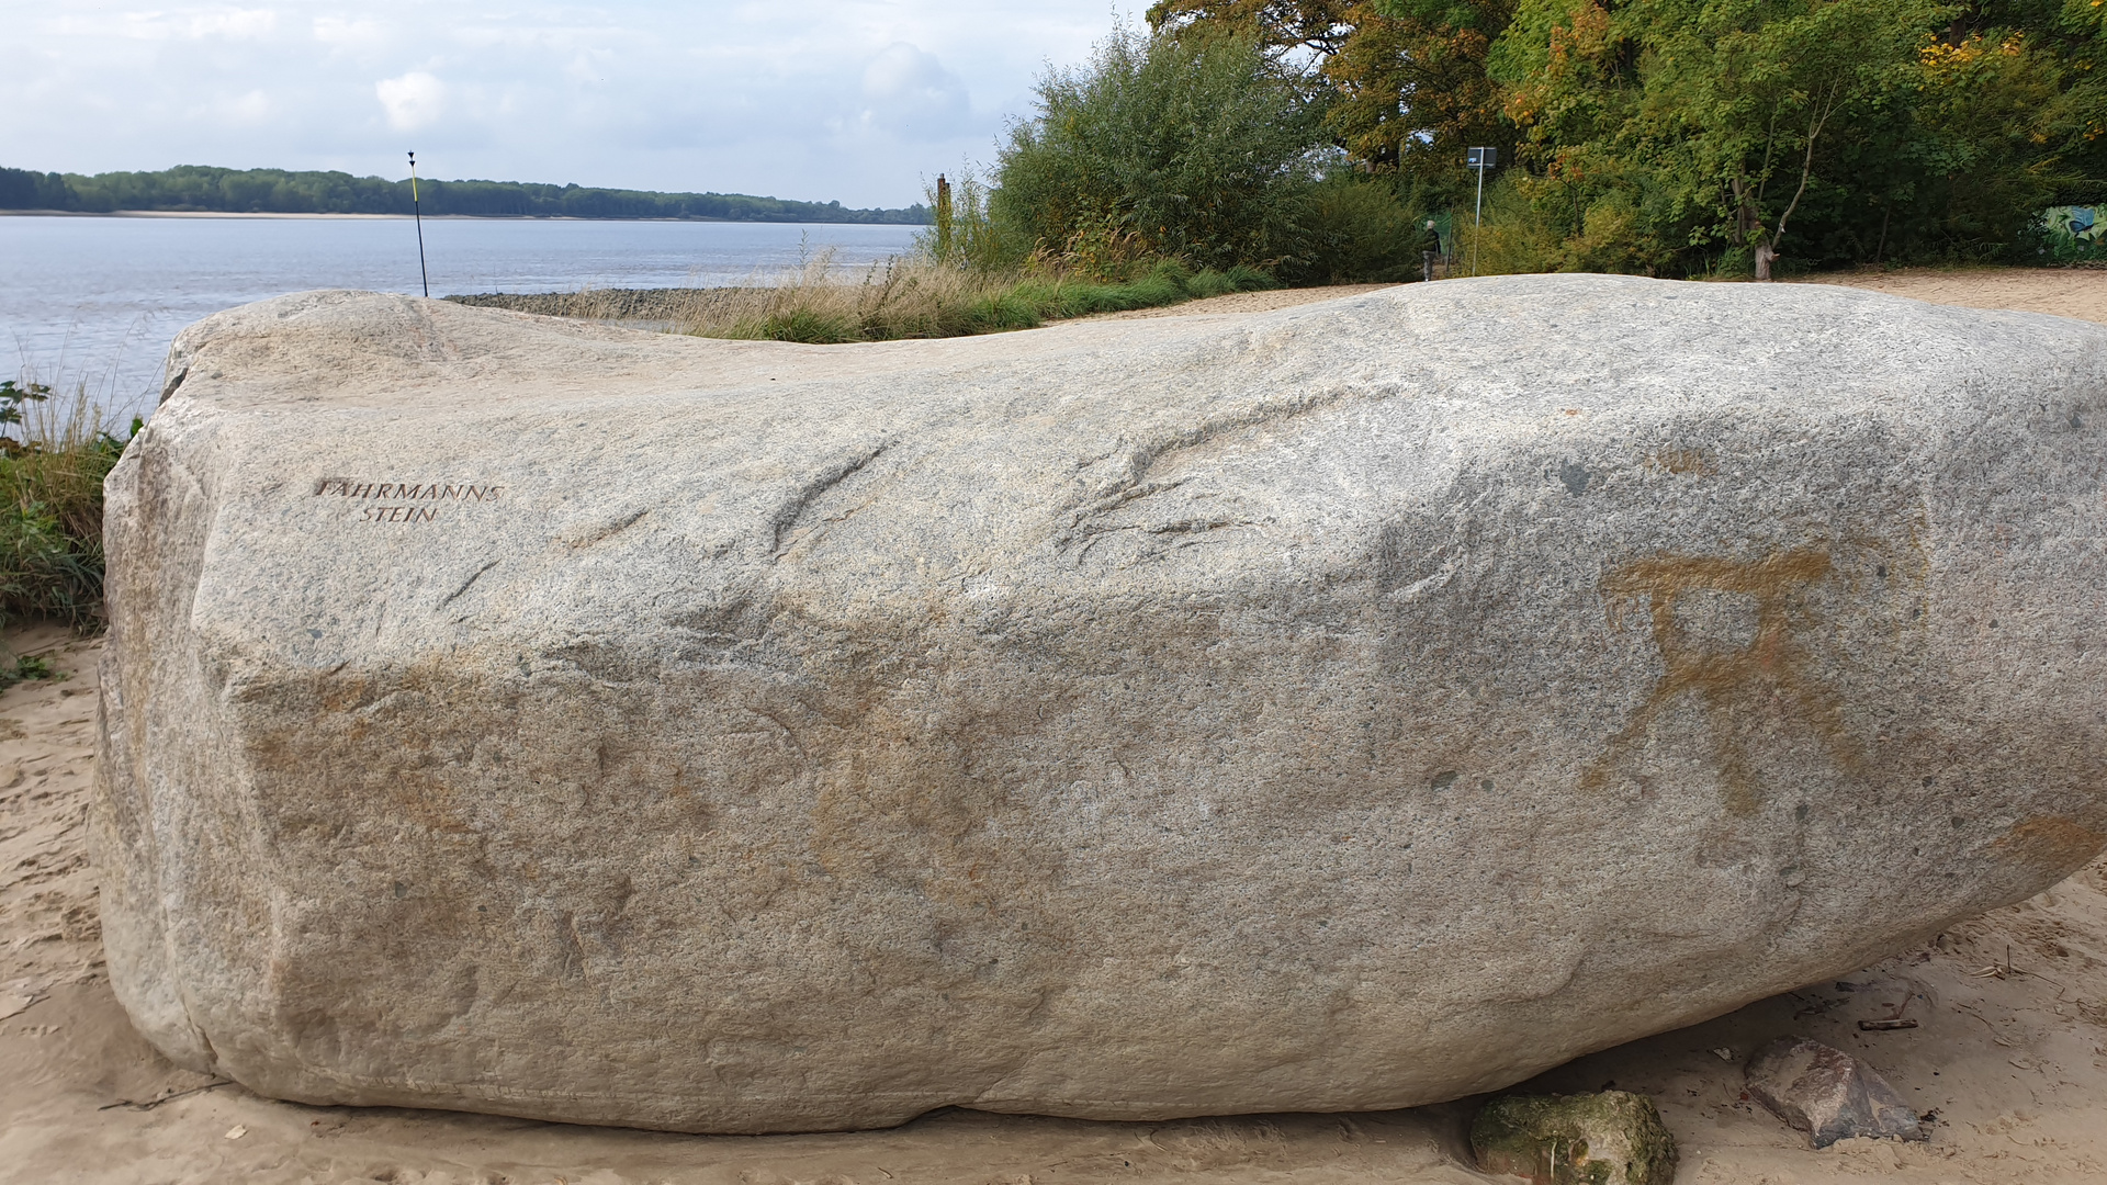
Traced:
<path fill-rule="evenodd" d="M 1119 4 L 1121 11 L 1136 8 Z M 0 0 L 0 164 L 228 164 L 900 207 L 1106 0 Z"/>

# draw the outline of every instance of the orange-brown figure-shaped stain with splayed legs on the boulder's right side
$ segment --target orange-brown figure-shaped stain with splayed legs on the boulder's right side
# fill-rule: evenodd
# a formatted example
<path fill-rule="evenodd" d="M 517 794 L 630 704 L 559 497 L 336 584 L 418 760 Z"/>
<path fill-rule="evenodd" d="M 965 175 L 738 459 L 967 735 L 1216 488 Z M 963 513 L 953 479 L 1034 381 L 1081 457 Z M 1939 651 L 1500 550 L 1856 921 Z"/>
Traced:
<path fill-rule="evenodd" d="M 1783 704 L 1789 715 L 1825 742 L 1839 768 L 1856 770 L 1860 755 L 1856 742 L 1844 734 L 1842 704 L 1810 677 L 1808 654 L 1791 635 L 1789 601 L 1793 592 L 1825 576 L 1829 576 L 1829 552 L 1812 548 L 1772 552 L 1757 561 L 1662 555 L 1608 574 L 1601 592 L 1612 607 L 1639 597 L 1650 601 L 1662 673 L 1631 721 L 1580 774 L 1580 789 L 1608 789 L 1610 776 L 1643 740 L 1654 717 L 1686 694 L 1698 696 L 1711 719 L 1730 814 L 1755 814 L 1761 803 L 1755 765 L 1734 736 L 1736 702 L 1742 706 L 1766 700 Z M 1734 649 L 1692 639 L 1675 614 L 1677 603 L 1690 592 L 1751 597 L 1755 601 L 1755 633 L 1749 643 Z"/>

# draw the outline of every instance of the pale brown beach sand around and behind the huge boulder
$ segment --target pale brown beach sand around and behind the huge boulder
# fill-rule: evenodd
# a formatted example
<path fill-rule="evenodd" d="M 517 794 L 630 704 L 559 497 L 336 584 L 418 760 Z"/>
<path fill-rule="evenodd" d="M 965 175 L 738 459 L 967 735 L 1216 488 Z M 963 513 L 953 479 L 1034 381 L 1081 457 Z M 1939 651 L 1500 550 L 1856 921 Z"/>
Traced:
<path fill-rule="evenodd" d="M 1825 283 L 2107 323 L 2107 272 L 1888 272 Z M 1252 312 L 1342 291 L 1237 293 L 1150 314 Z M 17 654 L 46 656 L 61 677 L 0 692 L 0 1181 L 1513 1181 L 1469 1168 L 1471 1101 L 1171 1124 L 940 1111 L 885 1132 L 733 1139 L 257 1099 L 162 1061 L 110 993 L 82 833 L 99 643 L 48 626 L 11 630 L 6 641 Z M 1858 1031 L 1858 1021 L 1890 1016 L 1905 1002 L 1919 1027 Z M 1740 1063 L 1783 1033 L 1869 1061 L 1932 1118 L 1932 1141 L 1808 1149 L 1740 1099 Z M 2107 1181 L 2107 860 L 1837 983 L 1603 1050 L 1525 1088 L 1612 1082 L 1660 1103 L 1681 1145 L 1679 1183 Z"/>

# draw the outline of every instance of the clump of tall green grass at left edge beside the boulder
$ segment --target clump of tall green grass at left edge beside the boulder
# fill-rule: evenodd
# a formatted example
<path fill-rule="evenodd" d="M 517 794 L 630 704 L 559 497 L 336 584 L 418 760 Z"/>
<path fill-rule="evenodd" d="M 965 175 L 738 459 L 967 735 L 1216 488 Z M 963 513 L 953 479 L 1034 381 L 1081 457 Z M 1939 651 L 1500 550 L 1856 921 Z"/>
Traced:
<path fill-rule="evenodd" d="M 133 422 L 133 432 L 139 422 Z M 0 624 L 101 624 L 103 477 L 124 451 L 86 384 L 0 382 Z"/>

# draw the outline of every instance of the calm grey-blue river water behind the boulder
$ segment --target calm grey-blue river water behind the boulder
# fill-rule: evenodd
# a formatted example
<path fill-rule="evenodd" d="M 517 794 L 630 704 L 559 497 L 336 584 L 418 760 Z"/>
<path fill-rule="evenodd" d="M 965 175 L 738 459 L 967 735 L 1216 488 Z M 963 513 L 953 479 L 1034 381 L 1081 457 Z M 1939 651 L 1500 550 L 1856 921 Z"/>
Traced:
<path fill-rule="evenodd" d="M 912 226 L 424 219 L 432 295 L 765 283 L 824 249 L 866 268 Z M 308 289 L 421 291 L 398 217 L 0 215 L 0 377 L 72 392 L 112 424 L 152 411 L 179 329 Z"/>

